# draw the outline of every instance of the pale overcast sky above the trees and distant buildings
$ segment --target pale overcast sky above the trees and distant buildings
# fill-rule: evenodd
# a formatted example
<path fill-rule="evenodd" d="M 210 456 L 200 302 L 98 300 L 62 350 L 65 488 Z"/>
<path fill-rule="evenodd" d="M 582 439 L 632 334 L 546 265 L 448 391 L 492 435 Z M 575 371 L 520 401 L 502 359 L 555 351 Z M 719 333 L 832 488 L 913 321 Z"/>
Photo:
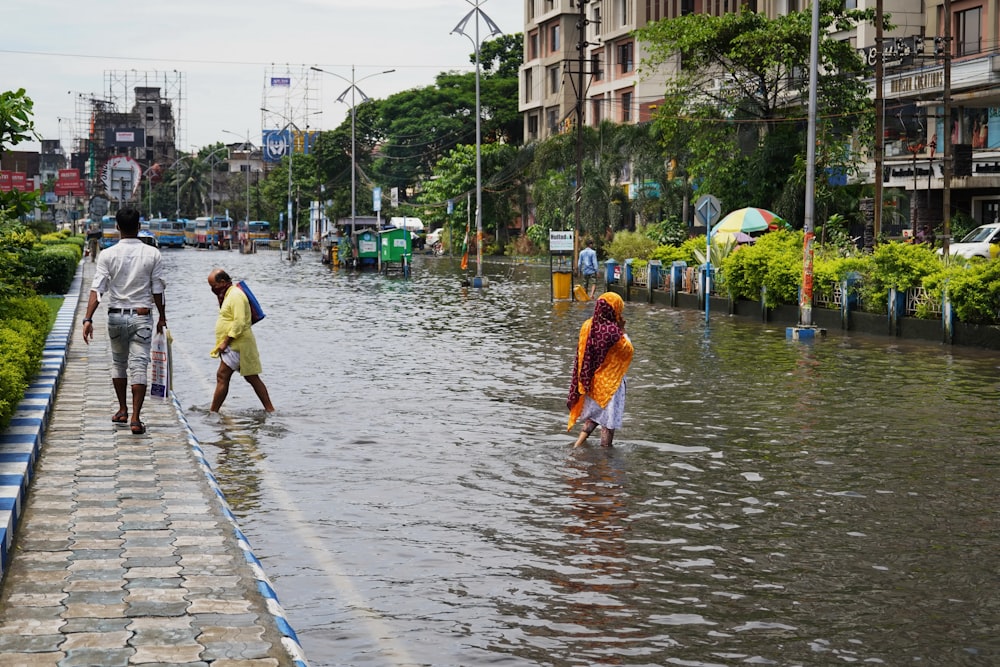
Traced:
<path fill-rule="evenodd" d="M 523 30 L 523 4 L 480 0 L 507 34 Z M 284 91 L 266 89 L 266 77 L 316 66 L 350 81 L 354 66 L 358 88 L 373 98 L 431 85 L 441 72 L 472 70 L 472 41 L 449 34 L 472 8 L 467 0 L 0 0 L 7 19 L 0 90 L 24 88 L 35 103 L 38 133 L 67 142 L 80 131 L 81 94 L 106 98 L 109 76 L 123 73 L 126 79 L 152 74 L 151 85 L 163 88 L 159 82 L 176 81 L 176 70 L 184 83 L 187 145 L 180 150 L 239 141 L 223 130 L 249 131 L 260 145 L 261 106 L 285 103 Z M 470 35 L 473 29 L 470 23 Z M 483 22 L 480 36 L 487 36 Z M 396 71 L 376 74 L 387 69 Z M 308 122 L 332 129 L 350 113 L 349 104 L 336 101 L 349 83 L 318 79 L 310 97 L 322 113 Z M 302 88 L 290 91 L 292 104 L 304 96 Z M 37 147 L 22 143 L 14 150 Z"/>

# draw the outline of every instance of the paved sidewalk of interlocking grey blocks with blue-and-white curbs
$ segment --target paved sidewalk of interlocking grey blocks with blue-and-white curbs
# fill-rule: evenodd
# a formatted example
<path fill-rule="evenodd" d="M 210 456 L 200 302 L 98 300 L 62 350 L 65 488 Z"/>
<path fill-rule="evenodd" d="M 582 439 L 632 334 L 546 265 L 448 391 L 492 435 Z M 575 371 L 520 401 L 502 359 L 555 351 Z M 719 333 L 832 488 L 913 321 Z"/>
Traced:
<path fill-rule="evenodd" d="M 0 665 L 306 665 L 180 405 L 111 423 L 106 313 L 89 346 L 78 325 L 93 266 L 0 433 Z"/>

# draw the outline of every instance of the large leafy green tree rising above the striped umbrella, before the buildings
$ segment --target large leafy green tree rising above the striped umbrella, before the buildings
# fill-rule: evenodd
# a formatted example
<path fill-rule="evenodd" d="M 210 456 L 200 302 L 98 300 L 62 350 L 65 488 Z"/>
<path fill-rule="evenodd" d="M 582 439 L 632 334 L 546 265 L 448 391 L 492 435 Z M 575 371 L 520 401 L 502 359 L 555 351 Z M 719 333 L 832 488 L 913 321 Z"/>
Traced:
<path fill-rule="evenodd" d="M 839 0 L 822 0 L 817 92 L 824 140 L 818 142 L 818 173 L 855 169 L 855 158 L 843 149 L 846 136 L 855 128 L 871 136 L 863 62 L 832 30 L 872 20 L 872 10 L 845 10 Z M 774 19 L 744 10 L 688 14 L 637 31 L 650 54 L 644 67 L 681 54 L 681 70 L 667 84 L 656 124 L 663 145 L 699 190 L 729 206 L 764 206 L 801 220 L 800 211 L 787 209 L 801 199 L 795 173 L 803 167 L 791 156 L 805 153 L 809 77 L 802 72 L 809 70 L 811 23 L 811 7 Z"/>

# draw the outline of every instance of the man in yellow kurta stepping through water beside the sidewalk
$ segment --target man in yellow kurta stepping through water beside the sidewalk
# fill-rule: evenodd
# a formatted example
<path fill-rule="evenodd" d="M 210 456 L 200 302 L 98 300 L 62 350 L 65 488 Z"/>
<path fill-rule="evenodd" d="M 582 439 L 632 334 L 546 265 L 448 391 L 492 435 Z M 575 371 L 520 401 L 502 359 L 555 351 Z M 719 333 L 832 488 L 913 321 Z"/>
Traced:
<path fill-rule="evenodd" d="M 260 353 L 257 339 L 250 329 L 250 301 L 232 278 L 222 269 L 213 269 L 208 274 L 208 286 L 219 299 L 219 318 L 215 321 L 215 349 L 213 357 L 219 357 L 219 370 L 215 374 L 215 394 L 212 396 L 212 412 L 218 412 L 229 394 L 229 381 L 233 373 L 240 372 L 264 410 L 274 412 L 271 397 L 264 381 L 260 379 Z"/>

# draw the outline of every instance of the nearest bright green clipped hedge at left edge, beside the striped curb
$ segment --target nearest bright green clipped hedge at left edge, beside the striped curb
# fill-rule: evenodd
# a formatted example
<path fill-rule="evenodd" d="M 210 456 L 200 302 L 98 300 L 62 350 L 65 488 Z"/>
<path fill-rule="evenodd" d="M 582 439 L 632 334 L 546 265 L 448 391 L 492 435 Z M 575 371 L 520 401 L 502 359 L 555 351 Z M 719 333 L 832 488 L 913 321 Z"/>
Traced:
<path fill-rule="evenodd" d="M 40 296 L 0 301 L 0 430 L 6 429 L 42 365 L 49 308 Z"/>

